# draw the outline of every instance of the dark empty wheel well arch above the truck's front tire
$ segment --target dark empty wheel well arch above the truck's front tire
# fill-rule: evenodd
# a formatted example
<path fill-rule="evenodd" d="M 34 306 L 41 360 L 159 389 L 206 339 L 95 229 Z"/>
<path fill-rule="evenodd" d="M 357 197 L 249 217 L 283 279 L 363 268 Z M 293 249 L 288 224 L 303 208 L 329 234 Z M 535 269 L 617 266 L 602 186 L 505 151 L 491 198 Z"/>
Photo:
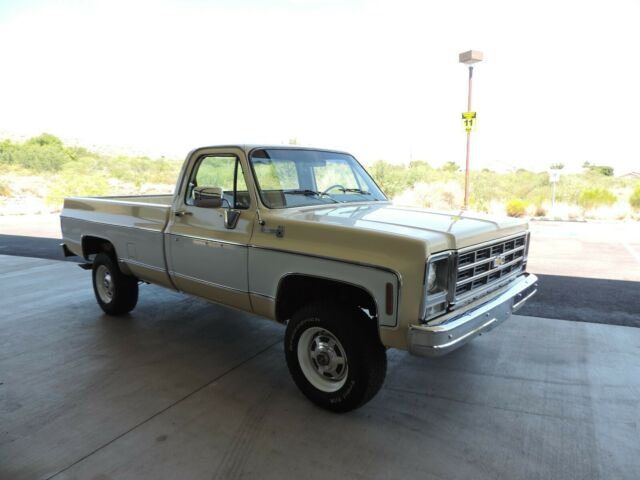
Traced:
<path fill-rule="evenodd" d="M 364 288 L 338 280 L 295 274 L 280 280 L 276 295 L 276 319 L 284 323 L 302 306 L 328 299 L 360 307 L 372 318 L 378 316 L 376 302 Z"/>

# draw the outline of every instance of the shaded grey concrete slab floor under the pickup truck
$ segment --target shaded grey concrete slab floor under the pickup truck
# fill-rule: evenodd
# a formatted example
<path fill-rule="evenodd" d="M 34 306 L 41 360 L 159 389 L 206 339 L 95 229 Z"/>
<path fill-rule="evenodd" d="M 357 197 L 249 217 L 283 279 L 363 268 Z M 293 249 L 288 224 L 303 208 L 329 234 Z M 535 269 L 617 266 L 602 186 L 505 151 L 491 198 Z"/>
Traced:
<path fill-rule="evenodd" d="M 17 262 L 17 263 L 16 263 Z M 362 409 L 317 409 L 283 328 L 0 256 L 0 478 L 638 478 L 640 329 L 514 317 L 440 359 L 389 351 Z"/>

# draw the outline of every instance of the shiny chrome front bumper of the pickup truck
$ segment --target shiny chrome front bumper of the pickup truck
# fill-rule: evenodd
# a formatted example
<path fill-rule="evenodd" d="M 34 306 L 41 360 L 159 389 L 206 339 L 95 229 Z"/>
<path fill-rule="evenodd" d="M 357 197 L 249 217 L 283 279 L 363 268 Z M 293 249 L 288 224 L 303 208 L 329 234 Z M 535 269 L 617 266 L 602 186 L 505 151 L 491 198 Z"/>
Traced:
<path fill-rule="evenodd" d="M 481 305 L 470 307 L 439 325 L 410 325 L 409 351 L 414 355 L 438 357 L 504 322 L 537 291 L 538 277 L 525 273 L 507 290 Z"/>

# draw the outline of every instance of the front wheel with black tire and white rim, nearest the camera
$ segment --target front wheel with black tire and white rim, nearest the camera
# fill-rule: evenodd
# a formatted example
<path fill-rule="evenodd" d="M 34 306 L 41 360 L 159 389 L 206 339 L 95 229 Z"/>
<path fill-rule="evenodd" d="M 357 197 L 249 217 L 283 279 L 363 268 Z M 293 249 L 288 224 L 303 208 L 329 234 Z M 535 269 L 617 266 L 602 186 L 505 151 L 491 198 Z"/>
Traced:
<path fill-rule="evenodd" d="M 355 307 L 317 303 L 296 312 L 287 325 L 285 355 L 302 393 L 333 412 L 371 400 L 387 371 L 376 327 Z"/>

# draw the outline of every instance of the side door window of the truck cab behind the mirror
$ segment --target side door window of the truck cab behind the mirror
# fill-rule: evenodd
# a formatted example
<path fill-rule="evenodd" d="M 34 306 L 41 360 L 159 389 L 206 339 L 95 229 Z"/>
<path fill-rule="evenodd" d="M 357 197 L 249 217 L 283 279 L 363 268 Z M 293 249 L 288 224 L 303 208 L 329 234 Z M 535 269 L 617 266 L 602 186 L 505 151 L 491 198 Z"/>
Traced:
<path fill-rule="evenodd" d="M 225 206 L 247 209 L 251 204 L 242 165 L 234 155 L 207 155 L 197 161 L 187 186 L 187 205 L 193 205 L 196 187 L 221 188 Z"/>

